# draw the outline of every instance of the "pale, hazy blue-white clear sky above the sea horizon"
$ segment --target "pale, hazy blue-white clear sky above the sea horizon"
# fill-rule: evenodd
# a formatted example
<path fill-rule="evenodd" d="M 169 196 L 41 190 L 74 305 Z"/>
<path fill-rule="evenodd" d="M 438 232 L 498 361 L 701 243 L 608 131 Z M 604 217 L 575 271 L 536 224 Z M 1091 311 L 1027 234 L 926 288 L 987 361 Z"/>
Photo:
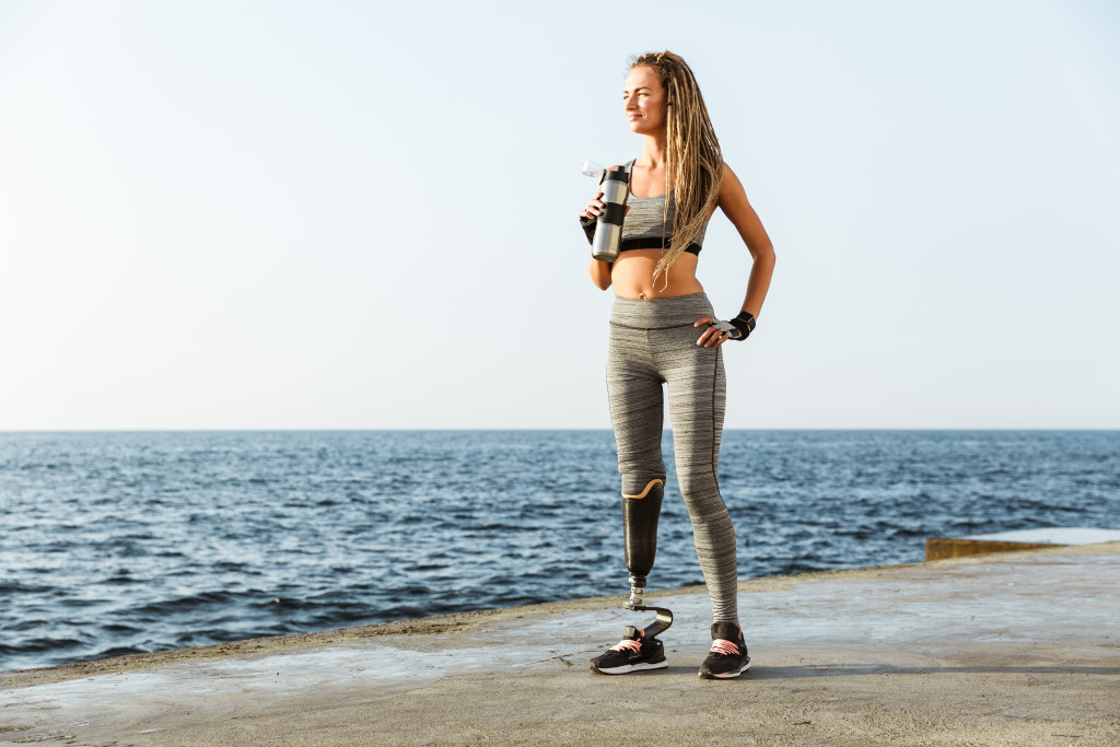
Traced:
<path fill-rule="evenodd" d="M 1114 2 L 0 0 L 0 430 L 609 428 L 665 48 L 777 254 L 728 428 L 1120 428 Z"/>

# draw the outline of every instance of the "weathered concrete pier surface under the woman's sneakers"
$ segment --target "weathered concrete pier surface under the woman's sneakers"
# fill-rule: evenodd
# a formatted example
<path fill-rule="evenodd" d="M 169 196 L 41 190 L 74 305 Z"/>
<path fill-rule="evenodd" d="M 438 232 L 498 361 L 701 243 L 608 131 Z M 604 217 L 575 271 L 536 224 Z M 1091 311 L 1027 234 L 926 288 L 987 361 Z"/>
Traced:
<path fill-rule="evenodd" d="M 588 672 L 647 620 L 581 599 L 8 673 L 0 744 L 1120 744 L 1120 542 L 744 581 L 732 681 L 650 597 L 668 670 Z"/>

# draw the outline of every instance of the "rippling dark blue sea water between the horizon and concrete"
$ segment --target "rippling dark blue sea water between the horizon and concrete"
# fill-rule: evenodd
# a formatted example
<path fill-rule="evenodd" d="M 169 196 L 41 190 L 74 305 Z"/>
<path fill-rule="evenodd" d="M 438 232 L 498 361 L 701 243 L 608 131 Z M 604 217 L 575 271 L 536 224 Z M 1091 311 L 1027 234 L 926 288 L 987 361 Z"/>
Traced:
<path fill-rule="evenodd" d="M 719 471 L 743 577 L 1120 527 L 1118 431 L 727 431 Z M 609 431 L 0 433 L 0 671 L 623 594 L 620 501 Z M 650 588 L 702 581 L 670 479 Z"/>

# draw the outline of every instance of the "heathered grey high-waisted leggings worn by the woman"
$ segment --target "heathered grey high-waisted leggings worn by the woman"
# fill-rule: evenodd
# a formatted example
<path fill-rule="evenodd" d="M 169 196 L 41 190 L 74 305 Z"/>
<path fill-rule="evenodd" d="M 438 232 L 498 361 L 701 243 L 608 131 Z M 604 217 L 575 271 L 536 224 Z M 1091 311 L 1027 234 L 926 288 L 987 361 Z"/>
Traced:
<path fill-rule="evenodd" d="M 607 352 L 607 396 L 623 495 L 665 479 L 661 458 L 663 394 L 669 384 L 676 483 L 692 519 L 697 557 L 717 623 L 738 623 L 735 527 L 719 494 L 717 463 L 727 381 L 718 347 L 700 347 L 700 317 L 713 316 L 704 293 L 615 298 Z"/>

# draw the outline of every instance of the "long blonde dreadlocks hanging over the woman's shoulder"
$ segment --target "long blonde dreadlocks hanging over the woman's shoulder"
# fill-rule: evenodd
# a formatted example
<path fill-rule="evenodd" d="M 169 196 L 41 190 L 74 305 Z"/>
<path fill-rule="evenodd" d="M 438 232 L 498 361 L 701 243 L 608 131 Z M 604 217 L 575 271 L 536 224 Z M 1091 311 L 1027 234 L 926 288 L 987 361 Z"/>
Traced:
<path fill-rule="evenodd" d="M 700 86 L 683 57 L 668 49 L 650 52 L 631 62 L 629 69 L 635 67 L 648 67 L 657 74 L 669 102 L 665 116 L 665 193 L 672 188 L 675 212 L 670 249 L 653 269 L 653 280 L 664 274 L 668 286 L 670 265 L 703 230 L 719 197 L 724 155 L 708 118 Z M 668 198 L 664 221 L 669 221 Z"/>

